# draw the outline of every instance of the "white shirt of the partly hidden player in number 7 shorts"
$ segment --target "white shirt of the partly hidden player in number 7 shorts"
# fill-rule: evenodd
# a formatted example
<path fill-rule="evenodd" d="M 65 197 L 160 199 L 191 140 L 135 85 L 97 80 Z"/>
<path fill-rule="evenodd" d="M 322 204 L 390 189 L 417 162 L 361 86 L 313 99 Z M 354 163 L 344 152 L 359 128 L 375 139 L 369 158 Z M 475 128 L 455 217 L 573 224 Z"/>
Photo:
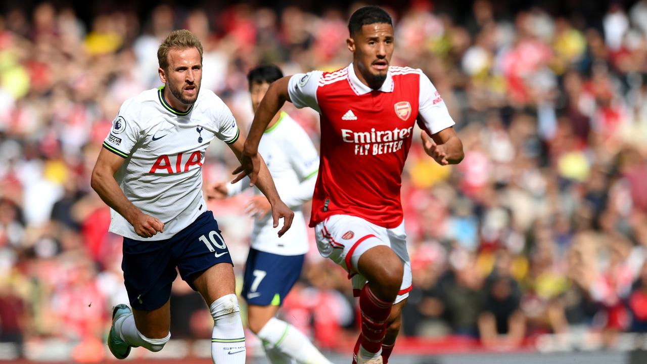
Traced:
<path fill-rule="evenodd" d="M 252 248 L 278 255 L 301 255 L 308 251 L 308 235 L 303 218 L 303 203 L 313 198 L 314 183 L 319 170 L 319 155 L 313 142 L 301 126 L 287 113 L 281 112 L 277 120 L 265 130 L 258 152 L 263 156 L 270 170 L 274 185 L 285 205 L 294 211 L 292 227 L 280 238 L 275 229 L 272 214 L 254 220 Z M 245 177 L 234 185 L 228 186 L 228 194 L 233 196 L 249 186 Z M 261 194 L 254 188 L 255 194 Z"/>

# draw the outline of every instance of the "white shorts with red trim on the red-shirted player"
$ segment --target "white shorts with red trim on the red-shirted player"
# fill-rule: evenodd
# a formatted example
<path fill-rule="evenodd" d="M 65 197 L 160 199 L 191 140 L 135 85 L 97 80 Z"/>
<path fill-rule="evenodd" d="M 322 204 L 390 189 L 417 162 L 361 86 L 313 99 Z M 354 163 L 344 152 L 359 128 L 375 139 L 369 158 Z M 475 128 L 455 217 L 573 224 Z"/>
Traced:
<path fill-rule="evenodd" d="M 366 285 L 366 277 L 357 273 L 357 262 L 368 249 L 386 245 L 393 249 L 404 265 L 402 285 L 395 303 L 409 297 L 411 291 L 411 260 L 406 250 L 404 222 L 394 229 L 386 229 L 349 215 L 329 216 L 314 227 L 319 253 L 342 266 L 353 284 L 353 294 L 358 297 Z"/>

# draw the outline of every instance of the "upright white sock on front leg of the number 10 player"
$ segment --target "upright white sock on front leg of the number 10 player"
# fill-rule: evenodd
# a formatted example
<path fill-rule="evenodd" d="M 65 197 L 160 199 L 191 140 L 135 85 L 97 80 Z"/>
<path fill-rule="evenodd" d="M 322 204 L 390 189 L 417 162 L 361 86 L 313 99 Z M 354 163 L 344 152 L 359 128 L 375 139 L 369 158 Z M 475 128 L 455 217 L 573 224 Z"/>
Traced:
<path fill-rule="evenodd" d="M 211 336 L 211 358 L 216 364 L 245 363 L 245 332 L 236 295 L 224 295 L 211 306 L 214 334 Z"/>

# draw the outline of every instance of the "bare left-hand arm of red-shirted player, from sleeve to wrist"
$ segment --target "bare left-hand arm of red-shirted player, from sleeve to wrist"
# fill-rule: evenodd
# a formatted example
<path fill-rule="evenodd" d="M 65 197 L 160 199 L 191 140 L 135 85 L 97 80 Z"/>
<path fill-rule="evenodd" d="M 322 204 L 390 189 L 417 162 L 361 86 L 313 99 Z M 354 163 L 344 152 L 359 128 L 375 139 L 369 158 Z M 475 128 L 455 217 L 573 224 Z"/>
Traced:
<path fill-rule="evenodd" d="M 274 115 L 283 107 L 283 104 L 290 100 L 287 90 L 289 81 L 289 77 L 280 78 L 267 89 L 265 97 L 263 97 L 254 114 L 252 127 L 245 142 L 245 154 L 255 155 L 258 152 L 258 143 L 261 141 L 263 132 L 267 129 Z"/>

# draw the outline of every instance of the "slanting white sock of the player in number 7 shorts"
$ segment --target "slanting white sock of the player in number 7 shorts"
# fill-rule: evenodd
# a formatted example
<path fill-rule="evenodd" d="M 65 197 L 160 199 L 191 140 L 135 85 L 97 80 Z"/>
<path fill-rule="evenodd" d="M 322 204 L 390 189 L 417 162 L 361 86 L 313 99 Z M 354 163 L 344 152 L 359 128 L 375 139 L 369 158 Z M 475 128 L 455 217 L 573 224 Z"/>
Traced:
<path fill-rule="evenodd" d="M 307 336 L 285 321 L 272 317 L 258 332 L 258 337 L 300 364 L 331 364 Z"/>

